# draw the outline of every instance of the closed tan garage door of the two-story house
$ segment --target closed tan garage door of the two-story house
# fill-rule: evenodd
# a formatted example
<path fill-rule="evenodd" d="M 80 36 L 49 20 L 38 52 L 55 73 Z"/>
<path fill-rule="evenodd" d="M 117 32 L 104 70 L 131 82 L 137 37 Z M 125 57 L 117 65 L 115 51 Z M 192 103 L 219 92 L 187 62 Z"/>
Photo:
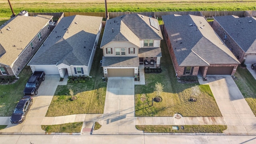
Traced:
<path fill-rule="evenodd" d="M 108 77 L 134 77 L 134 68 L 109 68 Z"/>

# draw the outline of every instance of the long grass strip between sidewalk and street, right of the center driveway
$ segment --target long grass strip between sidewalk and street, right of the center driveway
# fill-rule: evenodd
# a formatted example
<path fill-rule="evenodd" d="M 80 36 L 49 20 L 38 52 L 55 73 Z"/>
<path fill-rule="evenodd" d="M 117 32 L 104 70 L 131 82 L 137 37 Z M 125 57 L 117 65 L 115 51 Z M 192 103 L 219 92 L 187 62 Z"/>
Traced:
<path fill-rule="evenodd" d="M 155 132 L 155 133 L 223 133 L 223 130 L 227 129 L 227 126 L 222 125 L 184 125 L 184 129 L 173 130 L 170 125 L 136 125 L 138 130 L 144 130 L 144 132 Z"/>

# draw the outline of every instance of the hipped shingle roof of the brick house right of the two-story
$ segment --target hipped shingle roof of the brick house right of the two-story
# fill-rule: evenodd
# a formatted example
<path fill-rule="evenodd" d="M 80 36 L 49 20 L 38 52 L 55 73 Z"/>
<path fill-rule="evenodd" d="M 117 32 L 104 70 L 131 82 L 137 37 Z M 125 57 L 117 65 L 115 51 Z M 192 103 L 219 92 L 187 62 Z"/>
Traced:
<path fill-rule="evenodd" d="M 240 64 L 204 17 L 165 15 L 162 18 L 179 66 Z"/>

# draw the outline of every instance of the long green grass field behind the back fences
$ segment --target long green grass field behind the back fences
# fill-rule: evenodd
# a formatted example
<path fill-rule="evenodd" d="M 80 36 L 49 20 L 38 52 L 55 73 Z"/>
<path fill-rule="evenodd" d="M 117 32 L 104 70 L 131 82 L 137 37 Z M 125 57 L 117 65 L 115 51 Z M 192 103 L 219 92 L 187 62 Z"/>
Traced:
<path fill-rule="evenodd" d="M 15 1 L 15 0 L 14 0 Z M 102 2 L 13 2 L 16 14 L 22 10 L 28 12 L 105 12 Z M 108 2 L 108 12 L 168 12 L 168 11 L 241 11 L 256 10 L 254 0 L 198 0 L 198 1 L 152 1 L 152 2 Z M 1 3 L 0 18 L 12 15 L 8 2 Z"/>

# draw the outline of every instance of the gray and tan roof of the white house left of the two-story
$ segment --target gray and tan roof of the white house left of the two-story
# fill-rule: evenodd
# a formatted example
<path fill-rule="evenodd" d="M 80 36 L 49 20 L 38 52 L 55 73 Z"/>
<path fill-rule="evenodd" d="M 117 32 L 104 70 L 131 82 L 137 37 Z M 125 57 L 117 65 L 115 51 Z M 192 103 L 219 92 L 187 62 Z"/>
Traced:
<path fill-rule="evenodd" d="M 28 65 L 88 66 L 102 17 L 62 18 Z"/>

